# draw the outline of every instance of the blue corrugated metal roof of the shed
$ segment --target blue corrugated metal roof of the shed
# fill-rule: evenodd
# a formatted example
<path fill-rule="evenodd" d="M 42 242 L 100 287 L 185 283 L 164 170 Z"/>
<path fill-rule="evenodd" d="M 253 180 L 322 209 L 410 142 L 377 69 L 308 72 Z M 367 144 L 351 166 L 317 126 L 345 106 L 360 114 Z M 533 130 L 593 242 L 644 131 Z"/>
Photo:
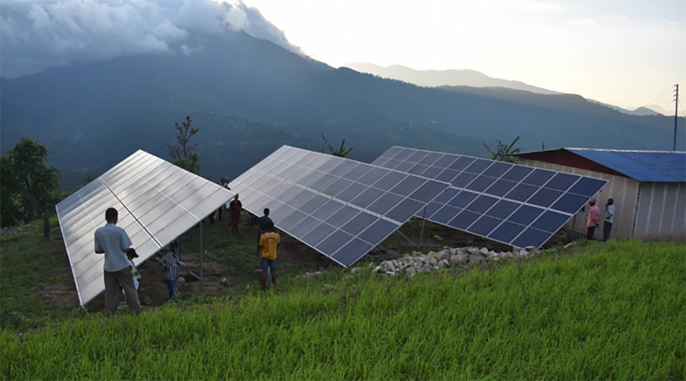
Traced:
<path fill-rule="evenodd" d="M 686 182 L 686 152 L 564 148 L 636 181 Z"/>

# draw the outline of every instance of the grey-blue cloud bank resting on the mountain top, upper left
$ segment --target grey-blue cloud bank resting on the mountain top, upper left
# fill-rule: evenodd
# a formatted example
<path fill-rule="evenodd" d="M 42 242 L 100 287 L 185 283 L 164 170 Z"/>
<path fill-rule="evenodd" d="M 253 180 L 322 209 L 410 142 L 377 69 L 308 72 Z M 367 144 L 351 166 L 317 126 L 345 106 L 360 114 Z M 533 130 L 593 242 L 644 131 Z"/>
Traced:
<path fill-rule="evenodd" d="M 196 33 L 244 30 L 302 54 L 240 0 L 3 0 L 0 75 L 132 54 L 193 54 Z"/>

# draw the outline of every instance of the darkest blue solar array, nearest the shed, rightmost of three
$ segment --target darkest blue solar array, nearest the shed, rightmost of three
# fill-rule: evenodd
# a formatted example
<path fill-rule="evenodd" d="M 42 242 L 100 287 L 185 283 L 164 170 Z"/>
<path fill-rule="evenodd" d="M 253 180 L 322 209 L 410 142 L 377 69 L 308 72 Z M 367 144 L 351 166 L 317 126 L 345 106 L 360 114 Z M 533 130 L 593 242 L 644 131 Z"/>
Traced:
<path fill-rule="evenodd" d="M 397 146 L 372 164 L 450 183 L 448 191 L 427 206 L 427 220 L 517 247 L 543 245 L 606 183 L 576 174 Z"/>

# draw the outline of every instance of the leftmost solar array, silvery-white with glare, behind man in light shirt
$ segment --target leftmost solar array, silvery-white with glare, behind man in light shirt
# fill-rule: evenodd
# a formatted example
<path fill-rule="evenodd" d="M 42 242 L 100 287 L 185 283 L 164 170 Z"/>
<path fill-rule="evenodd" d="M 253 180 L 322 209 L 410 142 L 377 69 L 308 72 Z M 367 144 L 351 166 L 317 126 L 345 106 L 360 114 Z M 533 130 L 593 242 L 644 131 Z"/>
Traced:
<path fill-rule="evenodd" d="M 233 192 L 139 150 L 56 205 L 81 305 L 104 290 L 94 251 L 105 210 L 119 212 L 139 264 L 233 197 Z"/>

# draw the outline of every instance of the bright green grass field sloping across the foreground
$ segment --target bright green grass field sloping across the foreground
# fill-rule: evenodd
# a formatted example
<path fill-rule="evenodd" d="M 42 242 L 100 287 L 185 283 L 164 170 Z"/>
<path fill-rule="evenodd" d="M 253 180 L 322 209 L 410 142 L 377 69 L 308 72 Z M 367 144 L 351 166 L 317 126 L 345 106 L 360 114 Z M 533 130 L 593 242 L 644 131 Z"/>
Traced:
<path fill-rule="evenodd" d="M 7 327 L 0 375 L 684 380 L 685 254 L 626 241 L 409 279 L 335 268 L 141 316 Z"/>

